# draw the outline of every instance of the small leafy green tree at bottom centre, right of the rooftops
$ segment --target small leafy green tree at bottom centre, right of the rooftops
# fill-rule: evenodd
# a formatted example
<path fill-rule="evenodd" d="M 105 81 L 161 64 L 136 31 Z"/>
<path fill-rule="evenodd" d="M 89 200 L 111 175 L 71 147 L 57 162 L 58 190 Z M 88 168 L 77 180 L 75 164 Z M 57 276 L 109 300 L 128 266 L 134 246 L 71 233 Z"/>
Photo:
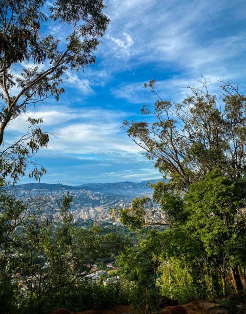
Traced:
<path fill-rule="evenodd" d="M 117 259 L 121 276 L 135 284 L 131 298 L 133 307 L 139 312 L 149 313 L 158 309 L 156 272 L 165 243 L 165 232 L 149 230 L 139 246 L 125 248 Z"/>

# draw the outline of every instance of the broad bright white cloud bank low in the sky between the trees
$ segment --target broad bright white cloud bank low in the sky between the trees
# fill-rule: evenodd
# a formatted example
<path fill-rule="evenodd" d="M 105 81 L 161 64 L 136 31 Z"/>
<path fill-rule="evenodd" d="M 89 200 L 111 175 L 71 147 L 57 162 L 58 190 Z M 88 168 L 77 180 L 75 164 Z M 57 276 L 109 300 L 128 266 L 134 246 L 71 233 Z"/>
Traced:
<path fill-rule="evenodd" d="M 51 136 L 49 151 L 68 155 L 107 153 L 112 160 L 122 151 L 120 155 L 124 158 L 124 154 L 140 151 L 120 129 L 122 119 L 128 115 L 129 112 L 102 108 L 71 110 L 63 106 L 43 106 L 12 121 L 6 129 L 6 141 L 16 141 L 26 132 L 27 117 L 43 117 L 42 129 L 55 133 Z"/>

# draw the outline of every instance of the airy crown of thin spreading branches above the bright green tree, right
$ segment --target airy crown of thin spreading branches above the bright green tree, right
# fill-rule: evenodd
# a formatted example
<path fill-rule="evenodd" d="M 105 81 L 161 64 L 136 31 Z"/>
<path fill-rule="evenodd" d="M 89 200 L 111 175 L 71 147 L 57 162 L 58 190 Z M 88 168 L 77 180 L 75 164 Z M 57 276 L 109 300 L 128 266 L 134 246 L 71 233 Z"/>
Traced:
<path fill-rule="evenodd" d="M 169 178 L 168 187 L 187 193 L 190 184 L 203 180 L 218 168 L 231 179 L 246 171 L 246 97 L 233 84 L 220 85 L 220 95 L 211 95 L 207 82 L 191 88 L 182 104 L 162 100 L 156 83 L 150 88 L 156 96 L 153 110 L 147 105 L 142 114 L 155 121 L 124 122 L 130 138 L 146 151 L 155 167 Z"/>

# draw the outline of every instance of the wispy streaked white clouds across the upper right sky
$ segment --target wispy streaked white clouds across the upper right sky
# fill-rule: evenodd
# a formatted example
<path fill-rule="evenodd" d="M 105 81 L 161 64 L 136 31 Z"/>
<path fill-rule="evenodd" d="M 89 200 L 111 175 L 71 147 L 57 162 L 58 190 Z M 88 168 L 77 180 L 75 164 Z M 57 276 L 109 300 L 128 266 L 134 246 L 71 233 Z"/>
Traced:
<path fill-rule="evenodd" d="M 113 73 L 158 62 L 160 69 L 185 74 L 188 82 L 201 73 L 244 80 L 246 32 L 226 29 L 243 19 L 240 12 L 245 4 L 237 2 L 240 10 L 227 0 L 108 0 L 111 24 L 98 53 L 104 54 L 104 67 Z M 134 44 L 127 46 L 126 34 Z M 113 64 L 106 62 L 112 58 Z"/>

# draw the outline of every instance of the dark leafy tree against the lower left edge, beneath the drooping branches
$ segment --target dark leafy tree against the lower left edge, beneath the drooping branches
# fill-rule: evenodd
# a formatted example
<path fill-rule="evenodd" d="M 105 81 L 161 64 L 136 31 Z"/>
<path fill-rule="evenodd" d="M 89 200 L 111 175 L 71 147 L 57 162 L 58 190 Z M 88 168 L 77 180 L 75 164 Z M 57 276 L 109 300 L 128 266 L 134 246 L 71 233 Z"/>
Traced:
<path fill-rule="evenodd" d="M 33 252 L 38 251 L 40 220 L 37 208 L 30 209 L 24 200 L 16 199 L 7 190 L 5 182 L 0 190 L 0 304 L 3 311 L 13 313 L 18 307 L 19 287 L 16 283 L 20 274 L 31 278 L 30 298 L 32 301 Z M 17 275 L 18 276 L 17 276 Z"/>

